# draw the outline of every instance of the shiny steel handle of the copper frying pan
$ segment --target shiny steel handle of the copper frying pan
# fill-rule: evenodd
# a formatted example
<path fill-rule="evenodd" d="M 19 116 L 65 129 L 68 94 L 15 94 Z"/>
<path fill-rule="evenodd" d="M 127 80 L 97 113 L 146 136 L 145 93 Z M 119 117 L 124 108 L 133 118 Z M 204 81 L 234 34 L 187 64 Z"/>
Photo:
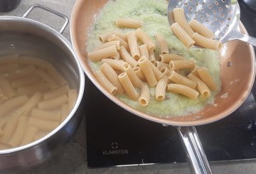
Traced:
<path fill-rule="evenodd" d="M 191 173 L 212 173 L 196 128 L 194 126 L 178 127 L 177 131 L 183 141 L 183 148 L 186 152 Z"/>

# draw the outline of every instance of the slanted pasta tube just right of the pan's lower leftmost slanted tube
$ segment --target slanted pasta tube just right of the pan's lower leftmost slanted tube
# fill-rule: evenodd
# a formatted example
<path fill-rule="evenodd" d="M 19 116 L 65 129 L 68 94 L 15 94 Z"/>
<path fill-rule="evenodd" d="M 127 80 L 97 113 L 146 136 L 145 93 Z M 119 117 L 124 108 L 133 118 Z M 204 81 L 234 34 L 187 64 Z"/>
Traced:
<path fill-rule="evenodd" d="M 128 65 L 128 64 L 127 64 Z M 107 77 L 110 82 L 117 87 L 117 93 L 122 94 L 124 92 L 124 89 L 122 88 L 121 83 L 119 82 L 117 73 L 114 72 L 113 68 L 107 63 L 103 63 L 100 67 L 100 70 L 103 72 L 103 74 Z"/>

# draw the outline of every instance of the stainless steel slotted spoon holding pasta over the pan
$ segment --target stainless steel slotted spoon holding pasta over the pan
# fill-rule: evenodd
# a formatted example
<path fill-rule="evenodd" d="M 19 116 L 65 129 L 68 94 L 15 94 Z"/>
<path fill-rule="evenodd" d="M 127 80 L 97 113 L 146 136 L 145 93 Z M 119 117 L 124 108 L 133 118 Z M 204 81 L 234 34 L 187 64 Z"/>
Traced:
<path fill-rule="evenodd" d="M 203 23 L 215 33 L 216 40 L 225 43 L 238 39 L 256 46 L 256 38 L 240 32 L 240 6 L 238 2 L 232 4 L 231 1 L 233 0 L 170 0 L 169 23 L 174 23 L 172 11 L 180 7 L 184 9 L 187 21 L 196 19 Z"/>

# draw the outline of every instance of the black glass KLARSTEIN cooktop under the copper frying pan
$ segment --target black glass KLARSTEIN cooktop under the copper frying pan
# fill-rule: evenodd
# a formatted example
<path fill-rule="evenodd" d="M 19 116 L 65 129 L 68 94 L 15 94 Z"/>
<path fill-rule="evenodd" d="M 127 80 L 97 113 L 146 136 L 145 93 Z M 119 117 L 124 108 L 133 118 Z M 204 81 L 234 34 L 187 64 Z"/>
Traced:
<path fill-rule="evenodd" d="M 241 21 L 256 37 L 256 11 L 240 2 Z M 196 126 L 209 161 L 256 158 L 256 85 L 242 106 L 213 124 Z M 143 165 L 186 162 L 176 128 L 131 114 L 85 82 L 87 165 Z"/>

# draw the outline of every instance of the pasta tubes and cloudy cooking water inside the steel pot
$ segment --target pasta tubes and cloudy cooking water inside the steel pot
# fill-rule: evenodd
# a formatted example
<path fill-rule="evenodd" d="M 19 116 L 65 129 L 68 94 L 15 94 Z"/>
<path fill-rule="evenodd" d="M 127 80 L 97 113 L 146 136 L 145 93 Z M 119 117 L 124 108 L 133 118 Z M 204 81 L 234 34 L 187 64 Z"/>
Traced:
<path fill-rule="evenodd" d="M 68 80 L 42 58 L 0 56 L 4 66 L 9 68 L 0 72 L 0 143 L 5 145 L 0 150 L 46 136 L 65 120 L 78 98 Z"/>

